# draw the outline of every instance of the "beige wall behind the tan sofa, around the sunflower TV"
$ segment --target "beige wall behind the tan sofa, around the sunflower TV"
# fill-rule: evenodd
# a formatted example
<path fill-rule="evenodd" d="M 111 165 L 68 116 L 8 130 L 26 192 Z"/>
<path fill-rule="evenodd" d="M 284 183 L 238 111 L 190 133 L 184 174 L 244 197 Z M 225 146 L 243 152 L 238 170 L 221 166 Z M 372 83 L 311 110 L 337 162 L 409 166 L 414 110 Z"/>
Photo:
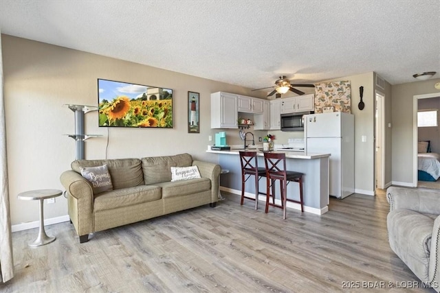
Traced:
<path fill-rule="evenodd" d="M 63 189 L 59 176 L 75 159 L 74 140 L 64 135 L 74 134 L 74 113 L 63 104 L 96 106 L 98 78 L 173 89 L 175 127 L 98 128 L 97 113 L 87 113 L 86 133 L 102 137 L 86 141 L 86 159 L 104 159 L 108 137 L 109 159 L 188 152 L 197 159 L 217 162 L 217 155 L 205 152 L 210 144 L 208 136 L 216 132 L 210 129 L 210 93 L 257 96 L 240 86 L 4 34 L 1 37 L 12 225 L 39 219 L 38 202 L 17 200 L 17 194 Z M 199 134 L 187 131 L 188 91 L 200 93 Z M 259 95 L 264 97 L 264 93 Z M 241 143 L 238 130 L 235 132 Z M 67 215 L 63 196 L 56 198 L 55 204 L 45 204 L 45 218 L 63 215 Z"/>

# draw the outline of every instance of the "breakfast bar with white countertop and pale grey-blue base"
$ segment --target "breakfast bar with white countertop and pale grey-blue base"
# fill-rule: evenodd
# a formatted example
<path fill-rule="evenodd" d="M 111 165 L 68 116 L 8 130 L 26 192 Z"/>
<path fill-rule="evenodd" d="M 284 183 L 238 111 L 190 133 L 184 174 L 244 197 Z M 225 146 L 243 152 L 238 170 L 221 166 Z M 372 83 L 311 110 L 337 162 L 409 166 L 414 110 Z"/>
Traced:
<path fill-rule="evenodd" d="M 228 169 L 229 173 L 221 176 L 221 190 L 241 195 L 241 164 L 240 149 L 231 150 L 207 150 L 206 152 L 219 155 L 219 165 Z M 246 149 L 249 152 L 257 152 L 259 167 L 265 167 L 264 153 L 258 149 Z M 322 215 L 329 210 L 329 156 L 330 154 L 318 154 L 308 152 L 274 151 L 286 154 L 286 167 L 288 170 L 302 172 L 304 189 L 304 211 Z M 255 197 L 254 177 L 246 182 L 246 196 Z M 266 178 L 259 181 L 260 191 L 266 191 Z M 299 198 L 298 183 L 287 185 L 287 198 Z M 259 200 L 266 200 L 260 195 Z M 276 187 L 276 200 L 281 204 L 278 185 Z M 300 210 L 300 204 L 287 202 L 287 207 Z"/>

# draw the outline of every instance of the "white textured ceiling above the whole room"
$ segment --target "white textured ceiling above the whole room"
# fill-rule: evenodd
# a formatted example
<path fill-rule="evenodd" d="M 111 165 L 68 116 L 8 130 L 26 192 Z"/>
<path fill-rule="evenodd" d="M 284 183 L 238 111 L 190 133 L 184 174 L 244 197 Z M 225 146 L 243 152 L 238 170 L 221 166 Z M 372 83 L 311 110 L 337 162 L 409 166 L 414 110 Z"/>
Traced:
<path fill-rule="evenodd" d="M 440 78 L 440 1 L 0 0 L 2 34 L 251 89 Z"/>

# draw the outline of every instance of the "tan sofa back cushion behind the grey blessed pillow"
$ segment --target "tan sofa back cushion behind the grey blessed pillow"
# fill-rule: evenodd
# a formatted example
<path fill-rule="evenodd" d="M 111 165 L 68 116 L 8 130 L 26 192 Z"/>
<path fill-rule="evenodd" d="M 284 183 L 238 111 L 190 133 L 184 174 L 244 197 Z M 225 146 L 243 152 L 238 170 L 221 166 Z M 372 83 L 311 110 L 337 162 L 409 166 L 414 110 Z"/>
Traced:
<path fill-rule="evenodd" d="M 76 160 L 72 162 L 71 167 L 80 173 L 80 167 L 96 167 L 104 164 L 109 168 L 113 189 L 144 185 L 140 159 Z"/>

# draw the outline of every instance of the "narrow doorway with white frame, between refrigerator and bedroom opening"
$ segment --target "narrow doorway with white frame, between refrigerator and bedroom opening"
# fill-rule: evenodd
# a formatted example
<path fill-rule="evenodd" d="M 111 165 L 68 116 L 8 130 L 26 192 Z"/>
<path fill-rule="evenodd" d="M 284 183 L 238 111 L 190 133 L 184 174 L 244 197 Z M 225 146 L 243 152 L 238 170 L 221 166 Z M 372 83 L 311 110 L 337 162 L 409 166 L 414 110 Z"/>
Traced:
<path fill-rule="evenodd" d="M 375 91 L 375 189 L 385 188 L 385 95 Z"/>

